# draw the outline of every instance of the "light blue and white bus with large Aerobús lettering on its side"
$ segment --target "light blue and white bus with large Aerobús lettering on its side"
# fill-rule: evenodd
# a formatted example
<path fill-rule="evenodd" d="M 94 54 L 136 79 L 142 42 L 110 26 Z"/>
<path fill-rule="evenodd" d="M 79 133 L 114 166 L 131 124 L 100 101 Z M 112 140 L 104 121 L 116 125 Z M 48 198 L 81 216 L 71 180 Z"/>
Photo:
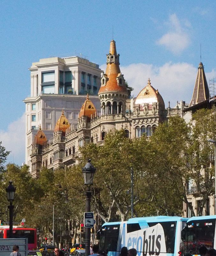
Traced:
<path fill-rule="evenodd" d="M 123 246 L 135 248 L 138 256 L 178 256 L 181 231 L 188 218 L 156 216 L 106 222 L 102 226 L 99 248 L 108 256 L 118 256 Z"/>

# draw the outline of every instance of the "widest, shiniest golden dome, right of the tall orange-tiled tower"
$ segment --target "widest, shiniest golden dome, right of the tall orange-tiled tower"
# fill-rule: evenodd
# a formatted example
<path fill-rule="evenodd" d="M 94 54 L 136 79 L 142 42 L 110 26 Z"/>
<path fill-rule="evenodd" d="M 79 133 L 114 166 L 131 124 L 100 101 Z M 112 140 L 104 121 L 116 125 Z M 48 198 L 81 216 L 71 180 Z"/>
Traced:
<path fill-rule="evenodd" d="M 160 108 L 165 108 L 162 96 L 160 95 L 158 90 L 155 90 L 154 87 L 152 87 L 150 83 L 150 78 L 149 78 L 148 84 L 138 94 L 135 104 L 143 106 L 145 103 L 152 105 L 153 103 L 156 103 L 156 102 L 160 104 Z"/>

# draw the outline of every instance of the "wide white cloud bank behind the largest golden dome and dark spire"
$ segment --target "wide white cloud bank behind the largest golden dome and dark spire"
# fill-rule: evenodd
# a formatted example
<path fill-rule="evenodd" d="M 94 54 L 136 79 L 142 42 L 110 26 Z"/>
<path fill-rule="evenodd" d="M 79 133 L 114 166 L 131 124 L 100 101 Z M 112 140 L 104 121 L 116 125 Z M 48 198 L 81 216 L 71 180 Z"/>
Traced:
<path fill-rule="evenodd" d="M 106 64 L 100 67 L 106 70 Z M 121 72 L 128 84 L 134 88 L 131 92 L 134 97 L 147 85 L 148 78 L 155 89 L 158 89 L 163 97 L 165 106 L 174 107 L 176 101 L 190 103 L 193 88 L 197 76 L 197 67 L 189 63 L 165 63 L 161 67 L 138 63 L 129 66 L 121 66 Z M 207 81 L 216 76 L 216 70 L 205 73 Z"/>

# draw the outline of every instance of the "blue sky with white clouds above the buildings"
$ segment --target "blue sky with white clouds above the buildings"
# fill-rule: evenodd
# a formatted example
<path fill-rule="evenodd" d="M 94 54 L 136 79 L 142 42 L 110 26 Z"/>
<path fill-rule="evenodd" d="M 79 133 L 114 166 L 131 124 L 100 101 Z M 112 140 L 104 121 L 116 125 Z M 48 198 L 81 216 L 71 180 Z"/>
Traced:
<path fill-rule="evenodd" d="M 200 62 L 216 76 L 216 1 L 0 2 L 0 140 L 8 162 L 25 159 L 25 104 L 32 62 L 83 56 L 105 68 L 109 42 L 134 96 L 150 77 L 165 105 L 190 102 Z"/>

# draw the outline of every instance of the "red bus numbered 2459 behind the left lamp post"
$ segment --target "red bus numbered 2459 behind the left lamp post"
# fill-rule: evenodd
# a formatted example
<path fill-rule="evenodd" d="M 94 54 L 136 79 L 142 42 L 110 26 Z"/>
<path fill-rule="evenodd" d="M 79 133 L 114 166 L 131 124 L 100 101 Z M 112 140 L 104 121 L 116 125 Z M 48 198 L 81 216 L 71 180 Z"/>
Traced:
<path fill-rule="evenodd" d="M 0 226 L 0 238 L 9 237 L 9 226 Z M 28 250 L 37 248 L 36 228 L 13 226 L 13 238 L 28 238 Z"/>

